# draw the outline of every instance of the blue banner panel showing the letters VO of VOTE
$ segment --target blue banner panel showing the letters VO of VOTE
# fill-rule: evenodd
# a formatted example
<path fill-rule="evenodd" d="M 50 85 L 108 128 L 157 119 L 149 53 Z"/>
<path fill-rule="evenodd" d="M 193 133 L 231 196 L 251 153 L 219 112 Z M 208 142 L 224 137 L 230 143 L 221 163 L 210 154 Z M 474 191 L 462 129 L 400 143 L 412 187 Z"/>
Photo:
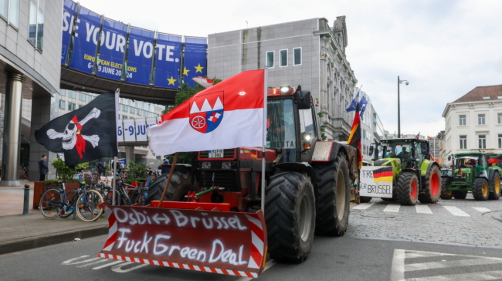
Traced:
<path fill-rule="evenodd" d="M 152 57 L 154 54 L 154 32 L 131 28 L 126 82 L 150 85 Z"/>

